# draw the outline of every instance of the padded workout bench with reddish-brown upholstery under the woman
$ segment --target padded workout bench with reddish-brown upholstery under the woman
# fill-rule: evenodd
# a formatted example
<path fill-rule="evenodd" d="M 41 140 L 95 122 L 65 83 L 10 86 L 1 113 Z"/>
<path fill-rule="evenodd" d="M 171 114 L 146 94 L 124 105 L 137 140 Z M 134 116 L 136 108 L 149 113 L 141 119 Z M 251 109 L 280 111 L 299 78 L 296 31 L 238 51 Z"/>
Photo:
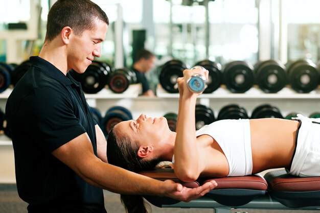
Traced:
<path fill-rule="evenodd" d="M 162 208 L 212 208 L 216 213 L 230 209 L 320 210 L 320 177 L 291 176 L 283 170 L 241 177 L 200 178 L 181 182 L 173 169 L 154 169 L 140 174 L 158 180 L 173 180 L 187 187 L 197 187 L 215 180 L 218 186 L 203 197 L 180 202 L 167 197 L 144 196 L 152 205 Z"/>

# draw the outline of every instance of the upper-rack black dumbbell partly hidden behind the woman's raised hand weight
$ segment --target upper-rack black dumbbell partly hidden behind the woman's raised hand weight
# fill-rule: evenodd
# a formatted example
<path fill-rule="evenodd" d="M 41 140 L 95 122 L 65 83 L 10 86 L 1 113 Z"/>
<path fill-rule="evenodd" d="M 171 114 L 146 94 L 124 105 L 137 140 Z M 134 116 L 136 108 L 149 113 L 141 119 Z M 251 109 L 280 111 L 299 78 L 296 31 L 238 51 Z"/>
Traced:
<path fill-rule="evenodd" d="M 210 60 L 203 60 L 197 62 L 195 66 L 202 66 L 209 71 L 207 88 L 203 93 L 212 93 L 221 86 L 223 76 L 221 72 L 221 65 L 219 63 Z"/>

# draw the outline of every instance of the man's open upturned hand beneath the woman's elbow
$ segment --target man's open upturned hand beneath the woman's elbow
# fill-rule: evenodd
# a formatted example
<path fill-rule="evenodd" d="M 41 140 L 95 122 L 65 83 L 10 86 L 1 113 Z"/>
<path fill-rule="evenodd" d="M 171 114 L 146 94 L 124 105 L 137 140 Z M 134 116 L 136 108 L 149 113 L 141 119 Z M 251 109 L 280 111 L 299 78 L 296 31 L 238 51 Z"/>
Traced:
<path fill-rule="evenodd" d="M 163 188 L 165 190 L 163 194 L 164 196 L 184 202 L 189 202 L 193 199 L 202 197 L 217 186 L 216 181 L 204 183 L 203 185 L 196 188 L 187 188 L 185 186 L 182 186 L 180 183 L 173 182 L 172 180 L 166 180 L 163 183 Z"/>

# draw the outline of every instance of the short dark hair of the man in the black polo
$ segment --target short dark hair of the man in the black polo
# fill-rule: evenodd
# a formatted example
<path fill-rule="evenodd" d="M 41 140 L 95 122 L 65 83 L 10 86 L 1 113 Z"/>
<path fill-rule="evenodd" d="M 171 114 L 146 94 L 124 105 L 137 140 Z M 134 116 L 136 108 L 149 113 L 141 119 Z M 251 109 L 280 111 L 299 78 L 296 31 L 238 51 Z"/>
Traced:
<path fill-rule="evenodd" d="M 52 41 L 66 26 L 81 35 L 85 30 L 94 29 L 97 19 L 109 25 L 105 12 L 89 0 L 58 0 L 48 13 L 45 40 Z"/>

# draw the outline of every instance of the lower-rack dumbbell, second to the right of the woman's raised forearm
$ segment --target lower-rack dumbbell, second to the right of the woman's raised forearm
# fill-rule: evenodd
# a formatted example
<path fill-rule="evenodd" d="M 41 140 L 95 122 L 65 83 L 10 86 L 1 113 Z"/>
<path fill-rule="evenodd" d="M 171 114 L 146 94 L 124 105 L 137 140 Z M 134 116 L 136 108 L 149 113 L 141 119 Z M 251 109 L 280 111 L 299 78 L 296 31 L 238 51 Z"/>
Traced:
<path fill-rule="evenodd" d="M 238 104 L 229 104 L 222 107 L 218 113 L 217 120 L 224 119 L 249 119 L 249 116 L 242 106 Z"/>

